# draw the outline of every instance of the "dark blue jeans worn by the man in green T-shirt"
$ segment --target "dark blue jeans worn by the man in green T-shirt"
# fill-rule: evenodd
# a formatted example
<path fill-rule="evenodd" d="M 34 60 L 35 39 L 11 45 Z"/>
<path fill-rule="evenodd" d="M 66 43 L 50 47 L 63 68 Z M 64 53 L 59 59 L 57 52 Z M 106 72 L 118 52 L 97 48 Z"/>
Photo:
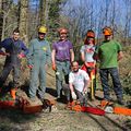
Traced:
<path fill-rule="evenodd" d="M 122 87 L 119 80 L 118 69 L 117 68 L 100 69 L 99 74 L 100 74 L 100 81 L 102 81 L 102 86 L 104 91 L 104 98 L 107 100 L 110 99 L 109 85 L 108 85 L 108 76 L 110 74 L 112 79 L 114 91 L 116 93 L 116 96 L 118 99 L 122 99 Z"/>

